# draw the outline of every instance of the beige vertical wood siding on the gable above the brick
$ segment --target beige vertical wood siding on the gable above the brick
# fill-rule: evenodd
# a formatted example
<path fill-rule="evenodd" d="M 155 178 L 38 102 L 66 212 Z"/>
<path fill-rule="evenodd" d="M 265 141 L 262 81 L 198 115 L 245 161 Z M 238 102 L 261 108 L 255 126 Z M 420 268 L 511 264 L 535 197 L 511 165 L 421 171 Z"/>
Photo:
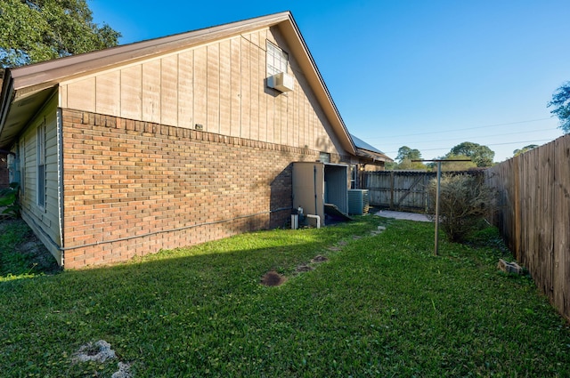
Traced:
<path fill-rule="evenodd" d="M 266 86 L 266 41 L 289 52 L 279 29 L 263 28 L 63 82 L 61 108 L 342 154 L 293 54 L 295 90 Z"/>

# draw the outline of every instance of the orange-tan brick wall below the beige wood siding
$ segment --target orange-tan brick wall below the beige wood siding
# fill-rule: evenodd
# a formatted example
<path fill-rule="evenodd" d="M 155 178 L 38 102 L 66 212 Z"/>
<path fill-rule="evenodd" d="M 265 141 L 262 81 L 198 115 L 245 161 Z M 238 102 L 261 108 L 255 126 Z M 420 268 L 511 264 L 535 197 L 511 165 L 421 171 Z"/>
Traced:
<path fill-rule="evenodd" d="M 319 157 L 69 109 L 62 116 L 65 268 L 282 226 L 291 163 Z"/>

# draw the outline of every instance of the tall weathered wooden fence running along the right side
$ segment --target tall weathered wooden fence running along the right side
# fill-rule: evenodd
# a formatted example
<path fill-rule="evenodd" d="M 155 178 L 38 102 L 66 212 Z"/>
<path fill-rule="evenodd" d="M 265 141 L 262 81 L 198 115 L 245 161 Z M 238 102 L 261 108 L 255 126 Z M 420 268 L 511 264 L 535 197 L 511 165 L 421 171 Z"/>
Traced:
<path fill-rule="evenodd" d="M 494 224 L 536 285 L 570 319 L 570 135 L 485 172 Z"/>

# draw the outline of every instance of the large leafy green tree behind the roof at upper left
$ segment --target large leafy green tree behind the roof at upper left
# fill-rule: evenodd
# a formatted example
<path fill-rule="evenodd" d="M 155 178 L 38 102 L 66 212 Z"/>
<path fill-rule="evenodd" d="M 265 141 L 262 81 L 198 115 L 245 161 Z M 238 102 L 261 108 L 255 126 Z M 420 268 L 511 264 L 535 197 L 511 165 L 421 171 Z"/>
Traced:
<path fill-rule="evenodd" d="M 0 25 L 2 68 L 116 46 L 121 36 L 94 24 L 85 0 L 2 0 Z"/>

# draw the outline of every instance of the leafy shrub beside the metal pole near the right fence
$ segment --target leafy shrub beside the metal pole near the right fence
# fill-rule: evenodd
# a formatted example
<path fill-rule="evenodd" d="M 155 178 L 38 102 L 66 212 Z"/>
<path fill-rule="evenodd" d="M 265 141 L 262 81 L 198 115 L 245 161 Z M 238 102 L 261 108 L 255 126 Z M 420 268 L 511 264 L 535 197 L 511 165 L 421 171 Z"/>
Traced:
<path fill-rule="evenodd" d="M 429 182 L 428 191 L 436 206 L 437 179 Z M 485 215 L 494 206 L 493 191 L 482 176 L 469 174 L 442 175 L 439 190 L 440 225 L 452 242 L 463 242 L 468 235 L 481 229 Z"/>

